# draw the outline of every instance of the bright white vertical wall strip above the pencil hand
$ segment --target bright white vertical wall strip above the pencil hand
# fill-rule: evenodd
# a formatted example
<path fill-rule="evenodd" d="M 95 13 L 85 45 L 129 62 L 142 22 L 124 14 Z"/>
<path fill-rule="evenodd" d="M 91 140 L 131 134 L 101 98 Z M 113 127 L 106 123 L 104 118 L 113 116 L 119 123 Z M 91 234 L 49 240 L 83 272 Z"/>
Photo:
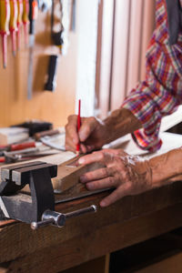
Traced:
<path fill-rule="evenodd" d="M 76 0 L 76 112 L 80 98 L 81 116 L 94 115 L 98 5 L 99 0 Z"/>

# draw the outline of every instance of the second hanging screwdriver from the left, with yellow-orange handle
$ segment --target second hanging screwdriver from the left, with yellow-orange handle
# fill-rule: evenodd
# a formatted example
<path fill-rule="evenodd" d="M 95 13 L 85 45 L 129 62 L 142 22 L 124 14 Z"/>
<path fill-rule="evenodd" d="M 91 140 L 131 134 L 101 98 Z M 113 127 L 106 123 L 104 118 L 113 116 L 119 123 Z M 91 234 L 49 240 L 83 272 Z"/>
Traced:
<path fill-rule="evenodd" d="M 17 31 L 17 0 L 9 0 L 10 3 L 10 21 L 9 21 L 9 30 L 12 38 L 12 52 L 13 56 L 16 53 L 16 36 L 15 32 Z"/>

